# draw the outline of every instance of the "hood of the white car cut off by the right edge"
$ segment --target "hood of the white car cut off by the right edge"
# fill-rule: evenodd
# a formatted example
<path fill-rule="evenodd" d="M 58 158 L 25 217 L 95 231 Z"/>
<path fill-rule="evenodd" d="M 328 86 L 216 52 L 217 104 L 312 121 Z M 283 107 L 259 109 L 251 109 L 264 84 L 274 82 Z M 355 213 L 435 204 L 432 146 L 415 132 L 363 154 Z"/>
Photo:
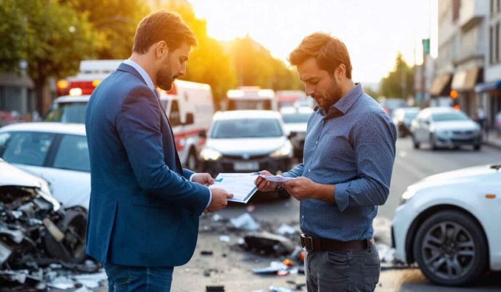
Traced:
<path fill-rule="evenodd" d="M 501 179 L 501 173 L 491 169 L 490 165 L 473 166 L 428 176 L 410 185 L 408 189 L 422 189 L 458 183 L 476 184 L 479 181 L 490 180 L 496 175 Z"/>

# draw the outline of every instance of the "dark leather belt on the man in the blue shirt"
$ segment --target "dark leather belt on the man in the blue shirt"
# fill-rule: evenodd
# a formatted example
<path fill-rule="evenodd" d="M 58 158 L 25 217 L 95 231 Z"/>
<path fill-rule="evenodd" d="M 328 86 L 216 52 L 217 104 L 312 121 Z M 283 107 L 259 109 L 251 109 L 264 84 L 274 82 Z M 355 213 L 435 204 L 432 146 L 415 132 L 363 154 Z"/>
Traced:
<path fill-rule="evenodd" d="M 301 246 L 307 251 L 360 251 L 368 247 L 368 240 L 340 241 L 301 234 Z M 374 243 L 374 239 L 370 239 Z"/>

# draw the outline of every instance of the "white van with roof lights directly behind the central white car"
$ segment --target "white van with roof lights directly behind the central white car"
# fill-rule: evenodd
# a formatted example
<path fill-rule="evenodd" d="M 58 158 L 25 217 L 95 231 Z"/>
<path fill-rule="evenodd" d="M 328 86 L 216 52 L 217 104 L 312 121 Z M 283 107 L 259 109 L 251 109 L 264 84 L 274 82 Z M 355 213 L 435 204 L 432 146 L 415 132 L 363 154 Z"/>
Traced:
<path fill-rule="evenodd" d="M 226 93 L 229 111 L 234 110 L 278 110 L 275 91 L 259 86 L 241 86 Z"/>

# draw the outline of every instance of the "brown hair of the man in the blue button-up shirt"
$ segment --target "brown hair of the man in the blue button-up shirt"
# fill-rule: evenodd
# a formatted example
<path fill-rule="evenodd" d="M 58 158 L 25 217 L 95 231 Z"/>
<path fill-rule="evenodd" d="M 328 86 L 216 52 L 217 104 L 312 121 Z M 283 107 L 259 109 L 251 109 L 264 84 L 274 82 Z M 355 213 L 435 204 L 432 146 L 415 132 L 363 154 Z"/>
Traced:
<path fill-rule="evenodd" d="M 346 77 L 351 79 L 351 61 L 348 49 L 341 40 L 326 33 L 313 33 L 301 41 L 301 44 L 289 55 L 289 62 L 297 66 L 309 58 L 315 58 L 318 66 L 331 75 L 344 64 Z"/>

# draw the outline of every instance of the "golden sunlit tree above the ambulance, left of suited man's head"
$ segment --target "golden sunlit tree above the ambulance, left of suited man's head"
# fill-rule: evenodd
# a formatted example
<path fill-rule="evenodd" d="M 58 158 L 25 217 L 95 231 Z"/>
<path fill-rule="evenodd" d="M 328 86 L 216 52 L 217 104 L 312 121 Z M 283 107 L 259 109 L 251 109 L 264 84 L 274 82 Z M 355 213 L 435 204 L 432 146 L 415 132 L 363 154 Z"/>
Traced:
<path fill-rule="evenodd" d="M 98 59 L 126 59 L 132 53 L 137 24 L 149 8 L 141 0 L 61 0 L 86 16 L 97 32 Z"/>

